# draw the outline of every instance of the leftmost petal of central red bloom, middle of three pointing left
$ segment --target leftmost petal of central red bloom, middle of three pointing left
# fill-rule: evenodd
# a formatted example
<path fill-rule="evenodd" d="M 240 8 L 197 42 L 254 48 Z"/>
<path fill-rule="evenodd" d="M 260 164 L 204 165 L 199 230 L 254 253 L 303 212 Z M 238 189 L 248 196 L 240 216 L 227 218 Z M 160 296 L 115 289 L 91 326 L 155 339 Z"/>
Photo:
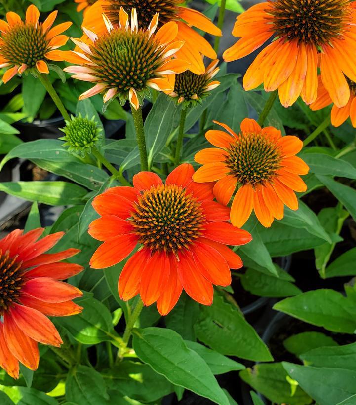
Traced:
<path fill-rule="evenodd" d="M 88 233 L 94 239 L 106 241 L 119 235 L 132 233 L 135 228 L 115 215 L 105 215 L 90 223 Z"/>

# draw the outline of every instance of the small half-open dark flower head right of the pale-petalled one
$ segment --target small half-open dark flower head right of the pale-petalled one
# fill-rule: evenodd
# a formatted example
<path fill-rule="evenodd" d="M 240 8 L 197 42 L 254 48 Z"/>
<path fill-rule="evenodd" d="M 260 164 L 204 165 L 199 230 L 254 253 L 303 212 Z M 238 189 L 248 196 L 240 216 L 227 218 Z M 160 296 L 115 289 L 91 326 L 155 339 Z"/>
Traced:
<path fill-rule="evenodd" d="M 209 91 L 219 86 L 220 81 L 212 80 L 219 72 L 216 59 L 206 68 L 204 74 L 195 74 L 191 71 L 185 71 L 180 74 L 172 75 L 169 80 L 174 81 L 174 91 L 169 95 L 177 99 L 177 102 L 183 103 L 183 107 L 189 107 L 191 104 L 201 103 L 209 95 Z"/>

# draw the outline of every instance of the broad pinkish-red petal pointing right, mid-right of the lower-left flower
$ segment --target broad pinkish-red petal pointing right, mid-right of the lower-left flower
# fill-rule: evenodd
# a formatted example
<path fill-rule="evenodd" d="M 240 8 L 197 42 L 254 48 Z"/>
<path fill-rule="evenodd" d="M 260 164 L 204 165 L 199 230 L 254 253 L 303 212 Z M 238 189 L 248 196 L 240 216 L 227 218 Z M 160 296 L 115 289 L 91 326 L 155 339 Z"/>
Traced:
<path fill-rule="evenodd" d="M 49 277 L 27 280 L 21 289 L 22 292 L 41 301 L 53 303 L 70 301 L 83 295 L 77 287 Z"/>

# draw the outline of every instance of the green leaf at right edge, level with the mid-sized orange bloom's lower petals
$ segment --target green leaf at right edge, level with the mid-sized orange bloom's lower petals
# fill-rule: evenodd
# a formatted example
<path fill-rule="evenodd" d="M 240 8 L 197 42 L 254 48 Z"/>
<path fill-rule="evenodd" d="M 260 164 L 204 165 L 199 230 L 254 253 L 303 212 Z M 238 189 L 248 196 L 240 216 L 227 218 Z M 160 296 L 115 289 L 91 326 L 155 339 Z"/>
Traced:
<path fill-rule="evenodd" d="M 356 179 L 356 168 L 344 160 L 324 153 L 304 153 L 300 157 L 307 163 L 311 173 Z"/>

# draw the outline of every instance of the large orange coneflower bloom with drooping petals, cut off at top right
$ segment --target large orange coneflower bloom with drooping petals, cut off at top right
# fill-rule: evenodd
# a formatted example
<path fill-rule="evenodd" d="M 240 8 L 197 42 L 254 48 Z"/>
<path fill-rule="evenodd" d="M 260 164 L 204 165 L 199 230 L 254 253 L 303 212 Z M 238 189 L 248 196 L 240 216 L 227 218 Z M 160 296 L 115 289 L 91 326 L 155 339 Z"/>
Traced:
<path fill-rule="evenodd" d="M 350 98 L 345 76 L 356 81 L 355 23 L 349 0 L 269 0 L 237 17 L 233 35 L 241 39 L 223 56 L 236 60 L 274 39 L 250 65 L 243 85 L 278 89 L 285 107 L 299 95 L 307 104 L 316 100 L 319 56 L 322 82 L 336 106 L 344 107 Z"/>

